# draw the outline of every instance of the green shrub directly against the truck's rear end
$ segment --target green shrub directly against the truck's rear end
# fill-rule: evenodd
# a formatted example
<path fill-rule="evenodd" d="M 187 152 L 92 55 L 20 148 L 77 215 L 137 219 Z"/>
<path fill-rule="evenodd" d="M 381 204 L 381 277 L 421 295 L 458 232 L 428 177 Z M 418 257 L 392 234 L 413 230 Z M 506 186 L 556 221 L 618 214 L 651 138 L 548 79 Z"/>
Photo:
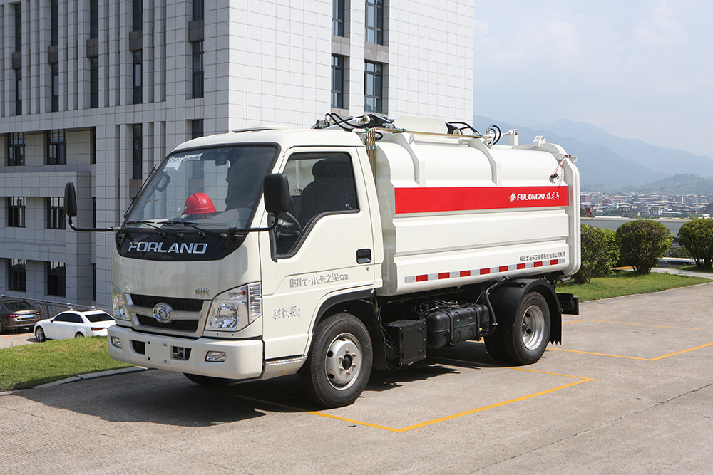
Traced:
<path fill-rule="evenodd" d="M 590 283 L 593 277 L 605 276 L 619 261 L 616 232 L 582 225 L 582 265 L 573 278 L 576 283 Z"/>

